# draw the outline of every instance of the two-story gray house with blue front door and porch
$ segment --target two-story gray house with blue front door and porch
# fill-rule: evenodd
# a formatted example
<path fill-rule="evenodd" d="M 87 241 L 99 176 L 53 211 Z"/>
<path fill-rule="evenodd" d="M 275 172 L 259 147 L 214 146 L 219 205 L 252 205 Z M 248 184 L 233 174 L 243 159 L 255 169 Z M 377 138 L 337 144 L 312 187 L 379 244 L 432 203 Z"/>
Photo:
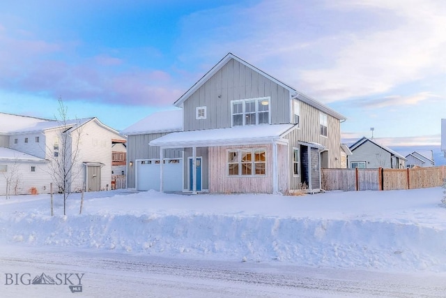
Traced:
<path fill-rule="evenodd" d="M 321 167 L 341 166 L 346 118 L 231 53 L 174 105 L 176 116 L 165 116 L 174 126 L 121 132 L 129 187 L 144 190 L 150 180 L 160 191 L 316 192 Z"/>

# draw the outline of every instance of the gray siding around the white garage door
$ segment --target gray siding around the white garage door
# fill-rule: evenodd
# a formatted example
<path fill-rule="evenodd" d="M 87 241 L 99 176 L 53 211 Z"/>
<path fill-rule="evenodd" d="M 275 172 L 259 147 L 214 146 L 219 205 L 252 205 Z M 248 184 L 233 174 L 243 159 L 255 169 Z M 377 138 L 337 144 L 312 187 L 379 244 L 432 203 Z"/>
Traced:
<path fill-rule="evenodd" d="M 169 133 L 150 133 L 144 135 L 129 135 L 128 136 L 128 151 L 127 151 L 127 163 L 133 162 L 133 166 L 128 164 L 128 187 L 134 188 L 135 185 L 135 169 L 136 165 L 134 161 L 137 159 L 151 159 L 160 158 L 160 147 L 149 146 L 148 142 L 155 140 L 158 137 L 167 135 Z M 164 151 L 164 158 L 183 158 L 182 149 L 166 149 Z"/>

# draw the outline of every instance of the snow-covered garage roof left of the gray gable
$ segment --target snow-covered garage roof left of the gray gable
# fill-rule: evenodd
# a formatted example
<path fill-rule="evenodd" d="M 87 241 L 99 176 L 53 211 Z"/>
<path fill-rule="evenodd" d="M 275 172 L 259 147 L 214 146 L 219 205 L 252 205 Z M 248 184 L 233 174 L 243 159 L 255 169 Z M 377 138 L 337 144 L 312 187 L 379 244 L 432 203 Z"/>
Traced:
<path fill-rule="evenodd" d="M 155 112 L 121 131 L 123 135 L 169 133 L 183 130 L 183 110 Z"/>

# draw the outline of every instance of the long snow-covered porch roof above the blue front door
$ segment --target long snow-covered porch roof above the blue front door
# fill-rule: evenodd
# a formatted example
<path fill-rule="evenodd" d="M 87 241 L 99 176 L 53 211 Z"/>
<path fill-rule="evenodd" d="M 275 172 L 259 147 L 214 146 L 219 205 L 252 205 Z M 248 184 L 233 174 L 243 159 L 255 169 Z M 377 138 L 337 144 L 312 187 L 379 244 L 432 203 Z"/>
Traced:
<path fill-rule="evenodd" d="M 238 144 L 266 144 L 279 141 L 293 124 L 234 126 L 231 128 L 180 131 L 152 140 L 151 146 L 183 148 L 192 146 L 225 146 Z"/>

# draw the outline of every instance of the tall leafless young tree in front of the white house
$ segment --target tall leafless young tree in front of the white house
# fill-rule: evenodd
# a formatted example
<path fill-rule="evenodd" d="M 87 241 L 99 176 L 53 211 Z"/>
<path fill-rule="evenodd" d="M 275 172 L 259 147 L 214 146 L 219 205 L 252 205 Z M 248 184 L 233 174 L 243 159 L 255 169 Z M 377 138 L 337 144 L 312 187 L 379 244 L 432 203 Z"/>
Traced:
<path fill-rule="evenodd" d="M 59 117 L 56 117 L 59 128 L 56 139 L 51 146 L 47 142 L 49 174 L 59 187 L 59 193 L 63 193 L 63 215 L 66 215 L 66 201 L 72 192 L 72 182 L 82 170 L 78 162 L 81 123 L 78 119 L 69 120 L 67 111 L 66 105 L 59 98 Z"/>

